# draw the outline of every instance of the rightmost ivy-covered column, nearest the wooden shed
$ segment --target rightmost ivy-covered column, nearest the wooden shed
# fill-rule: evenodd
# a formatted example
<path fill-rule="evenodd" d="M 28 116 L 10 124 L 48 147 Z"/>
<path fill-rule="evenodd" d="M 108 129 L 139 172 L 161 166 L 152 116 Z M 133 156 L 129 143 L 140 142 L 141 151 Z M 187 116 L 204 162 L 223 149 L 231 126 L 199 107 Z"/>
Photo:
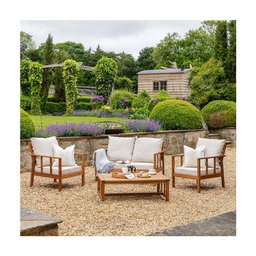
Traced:
<path fill-rule="evenodd" d="M 102 95 L 104 99 L 109 100 L 118 71 L 116 61 L 111 58 L 102 57 L 97 62 L 93 71 L 95 73 L 97 95 Z"/>

